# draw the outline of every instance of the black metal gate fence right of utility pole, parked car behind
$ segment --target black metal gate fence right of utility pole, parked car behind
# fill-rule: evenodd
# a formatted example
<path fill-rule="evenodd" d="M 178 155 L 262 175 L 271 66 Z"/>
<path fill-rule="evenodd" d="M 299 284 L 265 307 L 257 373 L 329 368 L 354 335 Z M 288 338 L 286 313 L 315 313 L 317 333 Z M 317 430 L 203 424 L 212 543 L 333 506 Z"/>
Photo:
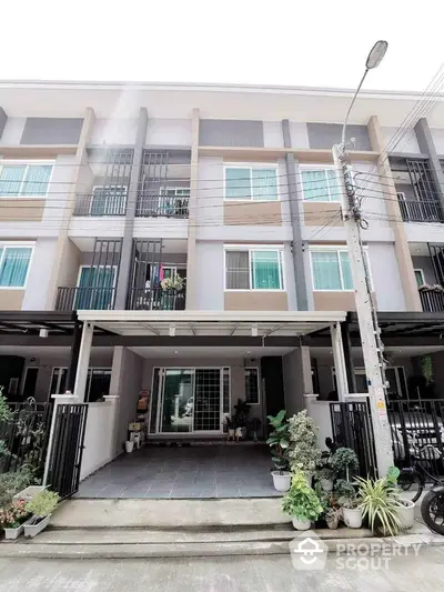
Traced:
<path fill-rule="evenodd" d="M 416 461 L 434 476 L 444 474 L 444 400 L 390 401 L 393 454 L 398 466 Z"/>

